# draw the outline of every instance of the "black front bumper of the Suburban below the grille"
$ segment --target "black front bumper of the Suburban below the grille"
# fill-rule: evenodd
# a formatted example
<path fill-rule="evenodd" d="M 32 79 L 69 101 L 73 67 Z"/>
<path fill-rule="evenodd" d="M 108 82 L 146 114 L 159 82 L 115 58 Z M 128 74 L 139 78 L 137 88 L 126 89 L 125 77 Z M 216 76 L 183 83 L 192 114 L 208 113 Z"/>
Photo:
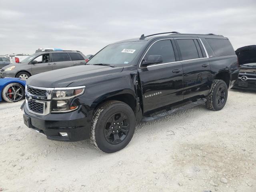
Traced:
<path fill-rule="evenodd" d="M 50 140 L 58 141 L 80 141 L 90 137 L 91 118 L 86 112 L 85 106 L 80 106 L 76 111 L 65 114 L 48 114 L 40 116 L 32 114 L 24 105 L 24 122 L 29 128 L 40 132 Z M 67 137 L 61 136 L 60 132 L 68 134 Z"/>

